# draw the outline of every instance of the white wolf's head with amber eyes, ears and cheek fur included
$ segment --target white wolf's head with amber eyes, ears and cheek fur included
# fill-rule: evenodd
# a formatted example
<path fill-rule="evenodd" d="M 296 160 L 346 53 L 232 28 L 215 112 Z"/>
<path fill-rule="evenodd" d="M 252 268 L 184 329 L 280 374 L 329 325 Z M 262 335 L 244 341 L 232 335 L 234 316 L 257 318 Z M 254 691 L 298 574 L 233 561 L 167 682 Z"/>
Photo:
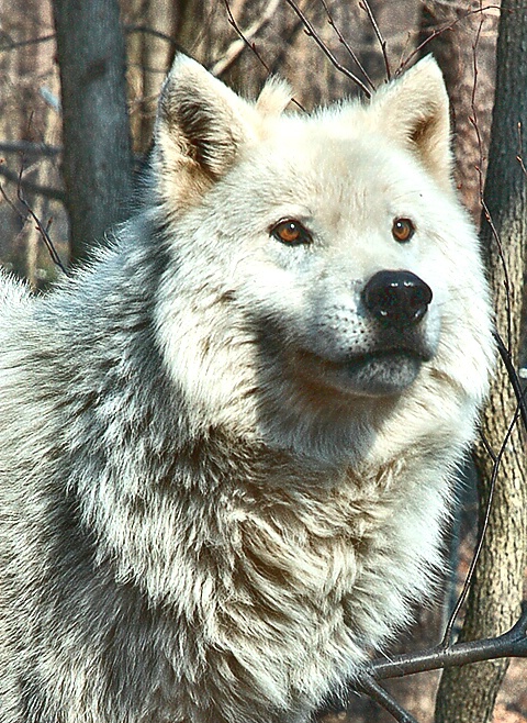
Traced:
<path fill-rule="evenodd" d="M 469 434 L 490 312 L 439 68 L 311 115 L 289 100 L 272 80 L 249 103 L 184 56 L 165 84 L 153 173 L 173 263 L 157 324 L 181 392 L 202 419 L 293 447 L 349 447 L 386 416 L 464 415 Z"/>

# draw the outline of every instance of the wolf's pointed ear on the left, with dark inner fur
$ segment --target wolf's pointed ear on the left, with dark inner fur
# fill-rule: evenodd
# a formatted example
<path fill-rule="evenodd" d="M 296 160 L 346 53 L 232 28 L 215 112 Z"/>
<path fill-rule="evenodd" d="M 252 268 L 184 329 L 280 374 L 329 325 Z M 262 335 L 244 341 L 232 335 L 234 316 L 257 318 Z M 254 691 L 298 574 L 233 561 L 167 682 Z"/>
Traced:
<path fill-rule="evenodd" d="M 184 204 L 234 163 L 255 135 L 254 108 L 199 63 L 179 54 L 161 89 L 154 164 Z M 179 197 L 179 198 L 175 198 Z"/>

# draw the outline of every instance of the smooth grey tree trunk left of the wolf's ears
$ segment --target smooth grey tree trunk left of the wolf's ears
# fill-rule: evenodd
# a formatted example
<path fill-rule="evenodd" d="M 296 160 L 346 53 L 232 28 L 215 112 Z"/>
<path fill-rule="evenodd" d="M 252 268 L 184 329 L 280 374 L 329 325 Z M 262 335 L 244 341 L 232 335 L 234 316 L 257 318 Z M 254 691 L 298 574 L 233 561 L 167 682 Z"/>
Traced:
<path fill-rule="evenodd" d="M 125 219 L 132 189 L 117 0 L 54 0 L 71 258 Z"/>

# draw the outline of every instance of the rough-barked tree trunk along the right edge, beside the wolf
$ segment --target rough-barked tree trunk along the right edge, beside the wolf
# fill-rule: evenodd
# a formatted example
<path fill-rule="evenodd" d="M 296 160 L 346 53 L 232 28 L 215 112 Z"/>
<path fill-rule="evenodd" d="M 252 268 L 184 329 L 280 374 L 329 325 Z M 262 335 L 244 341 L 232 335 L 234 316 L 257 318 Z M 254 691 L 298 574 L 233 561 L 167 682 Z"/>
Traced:
<path fill-rule="evenodd" d="M 513 358 L 517 358 L 519 344 L 527 232 L 526 174 L 517 158 L 525 152 L 523 129 L 527 127 L 527 66 L 523 57 L 526 43 L 527 12 L 523 0 L 504 0 L 484 193 L 502 252 L 486 220 L 482 222 L 482 240 L 494 289 L 496 325 L 509 345 Z M 506 437 L 515 411 L 516 400 L 503 365 L 500 365 L 483 419 L 483 432 L 495 453 Z M 478 446 L 475 456 L 483 514 L 493 463 L 483 445 Z M 525 440 L 516 429 L 496 479 L 489 530 L 471 588 L 461 639 L 503 633 L 519 613 L 526 550 L 525 480 Z M 446 670 L 437 699 L 436 723 L 490 721 L 506 667 L 507 663 L 501 660 Z"/>

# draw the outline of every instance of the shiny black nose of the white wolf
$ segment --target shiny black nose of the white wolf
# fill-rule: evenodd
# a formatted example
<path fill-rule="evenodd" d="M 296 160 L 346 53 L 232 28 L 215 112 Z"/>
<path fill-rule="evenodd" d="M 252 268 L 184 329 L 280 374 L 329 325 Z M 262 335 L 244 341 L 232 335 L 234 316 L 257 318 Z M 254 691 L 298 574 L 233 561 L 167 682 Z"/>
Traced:
<path fill-rule="evenodd" d="M 379 321 L 405 326 L 426 314 L 431 289 L 411 271 L 378 271 L 366 285 L 362 301 Z"/>

